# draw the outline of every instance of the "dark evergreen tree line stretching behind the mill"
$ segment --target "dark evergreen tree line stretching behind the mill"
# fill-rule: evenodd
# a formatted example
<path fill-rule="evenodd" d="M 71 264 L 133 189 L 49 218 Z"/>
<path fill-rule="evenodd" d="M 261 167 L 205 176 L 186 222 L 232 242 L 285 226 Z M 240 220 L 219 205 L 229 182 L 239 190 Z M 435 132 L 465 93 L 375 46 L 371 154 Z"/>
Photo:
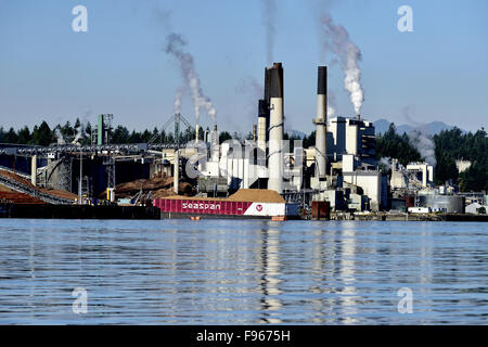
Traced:
<path fill-rule="evenodd" d="M 5 130 L 0 127 L 0 143 L 51 145 L 61 142 L 72 143 L 76 140 L 80 144 L 91 144 L 91 132 L 94 130 L 90 123 L 85 126 L 77 118 L 75 123 L 66 121 L 63 126 L 56 125 L 50 128 L 46 121 L 30 129 L 27 126 L 15 130 Z M 206 129 L 208 130 L 208 128 Z M 195 130 L 187 128 L 180 132 L 180 143 L 185 143 L 195 138 Z M 166 132 L 154 128 L 152 131 L 129 131 L 127 127 L 118 125 L 111 131 L 111 143 L 174 143 L 172 131 Z M 200 131 L 198 138 L 203 140 L 204 131 Z M 253 139 L 253 133 L 242 136 L 237 132 L 219 132 L 219 142 L 235 139 L 239 141 Z M 285 140 L 298 140 L 297 137 L 284 134 Z M 303 140 L 304 147 L 313 146 L 316 131 L 306 136 Z M 463 132 L 459 128 L 444 130 L 433 137 L 435 144 L 435 157 L 437 162 L 435 170 L 436 184 L 444 184 L 448 180 L 460 185 L 462 191 L 488 191 L 488 138 L 484 128 L 475 133 Z M 293 151 L 293 141 L 291 141 Z M 376 159 L 390 157 L 397 158 L 400 164 L 407 166 L 411 162 L 423 160 L 421 154 L 411 143 L 407 133 L 398 134 L 395 124 L 384 134 L 376 136 Z M 472 163 L 471 167 L 459 172 L 455 160 L 465 159 Z"/>

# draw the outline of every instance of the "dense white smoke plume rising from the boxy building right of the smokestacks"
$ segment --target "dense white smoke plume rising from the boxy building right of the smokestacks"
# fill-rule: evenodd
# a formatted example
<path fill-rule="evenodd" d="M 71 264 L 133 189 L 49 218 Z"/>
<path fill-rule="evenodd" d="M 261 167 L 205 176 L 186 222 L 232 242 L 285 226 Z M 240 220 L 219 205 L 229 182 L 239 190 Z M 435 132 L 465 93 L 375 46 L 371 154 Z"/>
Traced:
<path fill-rule="evenodd" d="M 335 25 L 332 18 L 322 15 L 321 26 L 325 30 L 323 35 L 324 46 L 331 50 L 339 60 L 341 67 L 346 75 L 344 78 L 344 88 L 349 92 L 350 101 L 357 115 L 361 113 L 364 102 L 364 92 L 361 86 L 361 51 L 350 40 L 349 34 L 342 25 Z"/>

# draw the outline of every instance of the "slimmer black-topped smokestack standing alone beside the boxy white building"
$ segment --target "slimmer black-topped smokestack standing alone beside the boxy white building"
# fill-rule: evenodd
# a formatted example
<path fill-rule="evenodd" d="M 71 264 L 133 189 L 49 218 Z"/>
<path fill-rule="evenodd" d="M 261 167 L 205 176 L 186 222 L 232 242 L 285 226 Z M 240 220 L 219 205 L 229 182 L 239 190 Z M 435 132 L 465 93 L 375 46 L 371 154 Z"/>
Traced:
<path fill-rule="evenodd" d="M 328 67 L 319 66 L 317 85 L 317 118 L 316 125 L 316 178 L 325 179 L 326 169 L 326 121 L 328 121 Z"/>

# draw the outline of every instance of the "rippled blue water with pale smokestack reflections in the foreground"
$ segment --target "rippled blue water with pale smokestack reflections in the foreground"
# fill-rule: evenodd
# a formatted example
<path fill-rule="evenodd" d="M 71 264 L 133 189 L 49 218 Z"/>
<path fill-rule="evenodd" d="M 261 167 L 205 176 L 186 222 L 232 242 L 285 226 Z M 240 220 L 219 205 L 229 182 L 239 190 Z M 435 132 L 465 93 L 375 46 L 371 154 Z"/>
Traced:
<path fill-rule="evenodd" d="M 487 324 L 487 226 L 0 219 L 0 323 Z"/>

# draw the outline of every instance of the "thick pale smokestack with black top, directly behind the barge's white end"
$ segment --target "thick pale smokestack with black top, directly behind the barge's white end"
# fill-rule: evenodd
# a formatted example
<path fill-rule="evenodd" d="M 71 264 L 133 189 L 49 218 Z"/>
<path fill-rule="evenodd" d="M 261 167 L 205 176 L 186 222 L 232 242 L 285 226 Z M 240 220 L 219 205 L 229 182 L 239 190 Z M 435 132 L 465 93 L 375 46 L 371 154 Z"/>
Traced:
<path fill-rule="evenodd" d="M 268 189 L 283 193 L 283 67 L 270 69 L 269 181 Z"/>

